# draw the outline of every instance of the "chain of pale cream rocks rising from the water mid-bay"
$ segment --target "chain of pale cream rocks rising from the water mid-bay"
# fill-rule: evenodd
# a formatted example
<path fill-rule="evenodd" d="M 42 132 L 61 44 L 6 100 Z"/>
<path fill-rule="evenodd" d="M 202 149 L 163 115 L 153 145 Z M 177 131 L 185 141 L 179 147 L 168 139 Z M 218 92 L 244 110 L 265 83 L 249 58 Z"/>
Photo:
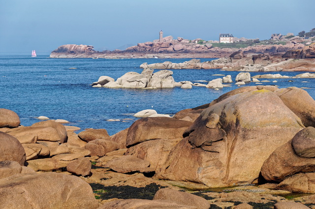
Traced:
<path fill-rule="evenodd" d="M 173 71 L 160 70 L 153 73 L 154 70 L 145 68 L 139 74 L 137 72 L 127 72 L 116 81 L 109 76 L 100 76 L 97 82 L 92 84 L 94 88 L 109 88 L 109 89 L 141 89 L 141 90 L 155 90 L 155 89 L 170 89 L 180 87 L 181 89 L 191 89 L 193 87 L 206 87 L 209 89 L 220 90 L 223 87 L 231 87 L 230 84 L 234 83 L 231 75 L 223 76 L 222 78 L 213 79 L 208 84 L 192 83 L 190 81 L 176 82 L 172 77 Z M 250 72 L 240 72 L 236 75 L 235 85 L 246 85 L 250 82 L 258 84 L 264 82 L 271 82 L 269 80 L 258 79 L 288 79 L 288 78 L 315 78 L 315 73 L 303 73 L 296 76 L 285 76 L 281 74 L 263 74 L 251 77 Z M 207 82 L 207 81 L 200 81 Z M 277 81 L 272 81 L 276 83 Z"/>

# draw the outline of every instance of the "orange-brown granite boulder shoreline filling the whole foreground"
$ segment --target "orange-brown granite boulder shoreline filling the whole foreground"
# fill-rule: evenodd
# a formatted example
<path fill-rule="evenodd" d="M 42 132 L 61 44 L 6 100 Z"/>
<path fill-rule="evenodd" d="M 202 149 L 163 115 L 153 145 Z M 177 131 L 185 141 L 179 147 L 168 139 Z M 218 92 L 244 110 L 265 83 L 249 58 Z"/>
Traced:
<path fill-rule="evenodd" d="M 0 205 L 315 208 L 315 100 L 305 90 L 249 86 L 154 115 L 109 136 L 63 120 L 21 126 L 0 109 Z"/>

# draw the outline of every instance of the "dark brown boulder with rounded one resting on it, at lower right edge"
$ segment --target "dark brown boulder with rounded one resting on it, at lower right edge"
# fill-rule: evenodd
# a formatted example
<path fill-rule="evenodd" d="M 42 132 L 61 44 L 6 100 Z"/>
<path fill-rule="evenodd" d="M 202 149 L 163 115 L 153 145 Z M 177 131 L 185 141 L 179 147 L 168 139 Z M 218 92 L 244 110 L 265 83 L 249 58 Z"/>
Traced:
<path fill-rule="evenodd" d="M 276 149 L 263 163 L 262 177 L 268 181 L 282 181 L 297 173 L 315 172 L 315 158 L 306 158 L 314 155 L 313 131 L 313 127 L 307 127 Z"/>

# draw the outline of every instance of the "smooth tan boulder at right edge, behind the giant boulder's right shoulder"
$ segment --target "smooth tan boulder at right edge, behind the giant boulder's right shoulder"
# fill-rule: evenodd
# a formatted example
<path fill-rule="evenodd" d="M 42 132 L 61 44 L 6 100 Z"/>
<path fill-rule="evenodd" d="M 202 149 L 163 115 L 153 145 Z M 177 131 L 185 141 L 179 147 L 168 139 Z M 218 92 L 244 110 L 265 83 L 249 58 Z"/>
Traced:
<path fill-rule="evenodd" d="M 302 120 L 305 126 L 315 127 L 315 100 L 306 90 L 289 87 L 277 90 L 275 93 Z"/>

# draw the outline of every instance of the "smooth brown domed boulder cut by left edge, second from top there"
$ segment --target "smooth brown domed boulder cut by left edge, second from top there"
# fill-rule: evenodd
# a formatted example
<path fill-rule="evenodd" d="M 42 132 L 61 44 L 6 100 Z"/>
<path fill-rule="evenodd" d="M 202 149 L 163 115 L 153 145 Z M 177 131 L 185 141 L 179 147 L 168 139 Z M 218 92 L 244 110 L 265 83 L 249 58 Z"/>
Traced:
<path fill-rule="evenodd" d="M 12 160 L 24 165 L 25 150 L 15 137 L 0 131 L 0 145 L 0 161 Z"/>

